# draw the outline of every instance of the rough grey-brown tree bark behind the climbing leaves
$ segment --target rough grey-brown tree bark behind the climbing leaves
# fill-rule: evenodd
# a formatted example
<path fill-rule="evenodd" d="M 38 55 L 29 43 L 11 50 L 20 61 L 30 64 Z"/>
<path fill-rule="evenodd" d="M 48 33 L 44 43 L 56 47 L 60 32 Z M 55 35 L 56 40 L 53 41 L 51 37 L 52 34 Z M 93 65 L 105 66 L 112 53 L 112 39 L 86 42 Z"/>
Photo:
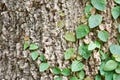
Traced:
<path fill-rule="evenodd" d="M 26 40 L 40 46 L 39 54 L 44 53 L 51 66 L 68 67 L 70 61 L 64 61 L 64 51 L 74 47 L 77 52 L 78 45 L 96 39 L 96 34 L 90 33 L 84 40 L 70 43 L 63 36 L 66 32 L 75 32 L 79 24 L 87 24 L 81 20 L 85 4 L 86 0 L 0 0 L 0 80 L 53 80 L 55 77 L 49 70 L 39 72 L 41 62 L 32 61 L 30 51 L 23 49 Z M 109 8 L 100 13 L 104 14 L 105 27 L 112 24 L 108 13 Z M 99 53 L 95 53 L 84 62 L 86 75 L 92 77 L 100 64 Z"/>

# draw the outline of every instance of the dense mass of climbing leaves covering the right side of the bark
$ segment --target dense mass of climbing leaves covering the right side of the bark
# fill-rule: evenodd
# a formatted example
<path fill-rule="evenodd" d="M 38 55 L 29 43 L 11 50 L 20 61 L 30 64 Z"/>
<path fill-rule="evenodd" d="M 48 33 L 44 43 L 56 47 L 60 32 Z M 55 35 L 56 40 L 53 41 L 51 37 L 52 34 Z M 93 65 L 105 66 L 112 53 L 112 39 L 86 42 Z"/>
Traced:
<path fill-rule="evenodd" d="M 120 4 L 120 0 L 114 0 L 117 4 Z M 86 5 L 85 7 L 85 14 L 88 18 L 88 25 L 81 24 L 79 25 L 76 30 L 75 34 L 73 32 L 68 32 L 65 34 L 65 39 L 70 42 L 76 42 L 78 39 L 82 39 L 85 36 L 87 36 L 92 28 L 96 28 L 102 23 L 102 16 L 100 14 L 94 14 L 91 15 L 91 10 L 92 8 L 95 8 L 99 11 L 104 11 L 106 9 L 106 0 L 91 0 L 92 5 Z M 111 10 L 112 17 L 114 19 L 117 19 L 120 16 L 120 6 L 115 6 Z M 120 33 L 120 25 L 118 26 L 118 31 Z M 97 33 L 97 40 L 94 42 L 91 42 L 90 44 L 84 44 L 80 45 L 78 47 L 78 54 L 76 54 L 74 48 L 68 48 L 65 53 L 64 57 L 65 60 L 71 60 L 75 59 L 72 61 L 71 64 L 71 71 L 76 72 L 76 71 L 81 71 L 76 74 L 79 74 L 84 72 L 83 67 L 84 64 L 82 63 L 82 59 L 88 60 L 91 52 L 98 48 L 100 56 L 101 56 L 101 65 L 100 65 L 100 73 L 98 73 L 95 77 L 95 80 L 102 80 L 103 77 L 105 80 L 120 80 L 120 46 L 116 44 L 111 44 L 109 49 L 110 53 L 104 53 L 101 50 L 101 43 L 105 43 L 109 40 L 109 34 L 107 31 L 102 30 L 98 31 Z M 120 42 L 120 36 L 118 37 L 118 40 Z M 112 55 L 112 56 L 111 56 Z M 79 56 L 75 57 L 75 56 Z M 84 74 L 85 76 L 85 74 Z M 82 79 L 83 75 L 81 76 Z M 81 78 L 80 77 L 80 78 Z M 73 77 L 71 78 L 72 80 L 78 80 L 79 77 Z M 86 77 L 85 80 L 89 80 L 90 78 Z M 80 79 L 81 80 L 81 79 Z"/>

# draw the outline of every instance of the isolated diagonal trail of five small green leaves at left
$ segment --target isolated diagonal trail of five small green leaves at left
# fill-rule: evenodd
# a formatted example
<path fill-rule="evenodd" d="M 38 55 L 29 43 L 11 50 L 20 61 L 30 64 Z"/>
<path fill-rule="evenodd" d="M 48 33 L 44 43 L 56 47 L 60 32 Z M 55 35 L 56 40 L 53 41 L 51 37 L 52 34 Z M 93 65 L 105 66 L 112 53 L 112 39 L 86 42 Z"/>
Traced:
<path fill-rule="evenodd" d="M 39 59 L 41 60 L 41 64 L 39 65 L 39 71 L 44 72 L 49 68 L 49 64 L 46 62 L 45 56 L 43 54 L 39 55 L 39 52 L 37 49 L 39 49 L 38 45 L 35 43 L 30 44 L 29 41 L 24 42 L 24 50 L 29 49 L 30 50 L 30 56 L 33 61 Z"/>

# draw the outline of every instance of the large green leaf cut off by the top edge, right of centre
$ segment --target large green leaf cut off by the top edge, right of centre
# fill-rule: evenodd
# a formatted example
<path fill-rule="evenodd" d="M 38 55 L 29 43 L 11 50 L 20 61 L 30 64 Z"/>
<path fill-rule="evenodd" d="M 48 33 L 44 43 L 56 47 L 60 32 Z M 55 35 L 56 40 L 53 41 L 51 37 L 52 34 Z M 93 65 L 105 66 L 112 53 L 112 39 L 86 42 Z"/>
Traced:
<path fill-rule="evenodd" d="M 100 11 L 104 11 L 106 9 L 106 0 L 91 0 L 91 4 Z"/>

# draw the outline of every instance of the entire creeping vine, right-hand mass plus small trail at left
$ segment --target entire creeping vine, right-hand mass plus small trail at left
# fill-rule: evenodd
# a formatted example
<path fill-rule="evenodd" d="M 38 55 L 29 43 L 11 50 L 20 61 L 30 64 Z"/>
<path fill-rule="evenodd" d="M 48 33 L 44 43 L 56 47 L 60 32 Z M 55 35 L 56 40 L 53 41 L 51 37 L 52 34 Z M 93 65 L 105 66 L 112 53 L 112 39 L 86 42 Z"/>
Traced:
<path fill-rule="evenodd" d="M 98 27 L 102 23 L 102 16 L 100 14 L 91 14 L 91 10 L 95 8 L 98 11 L 104 11 L 106 9 L 106 0 L 90 0 L 91 4 L 86 5 L 85 15 L 88 18 L 88 25 L 81 24 L 79 25 L 75 33 L 67 32 L 64 35 L 64 38 L 68 42 L 76 42 L 76 40 L 83 39 L 87 36 L 91 29 Z M 115 3 L 120 4 L 120 0 L 114 0 Z M 117 19 L 120 16 L 120 6 L 115 6 L 111 10 L 111 14 L 114 19 Z M 58 23 L 59 27 L 63 27 L 62 22 Z M 120 26 L 118 27 L 120 33 Z M 105 80 L 119 80 L 120 79 L 120 46 L 116 44 L 110 45 L 110 53 L 104 53 L 101 50 L 101 43 L 105 43 L 109 40 L 109 34 L 107 31 L 102 30 L 98 31 L 97 39 L 90 44 L 79 45 L 78 51 L 72 47 L 68 48 L 64 52 L 65 60 L 72 60 L 70 66 L 67 68 L 60 69 L 58 66 L 51 67 L 52 73 L 58 76 L 68 76 L 70 80 L 91 80 L 90 77 L 85 76 L 84 64 L 82 60 L 88 60 L 92 54 L 92 51 L 97 48 L 101 55 L 101 65 L 99 73 L 96 75 L 95 80 L 102 80 L 104 77 Z M 118 37 L 120 42 L 120 36 Z M 39 55 L 36 51 L 39 47 L 36 44 L 30 44 L 28 41 L 24 43 L 24 50 L 28 49 L 31 51 L 32 60 L 41 60 L 39 65 L 39 71 L 44 72 L 50 68 L 50 65 L 47 63 L 44 55 Z M 112 57 L 110 57 L 112 55 Z M 86 77 L 86 78 L 85 78 Z M 62 80 L 61 77 L 56 77 L 54 80 Z"/>

